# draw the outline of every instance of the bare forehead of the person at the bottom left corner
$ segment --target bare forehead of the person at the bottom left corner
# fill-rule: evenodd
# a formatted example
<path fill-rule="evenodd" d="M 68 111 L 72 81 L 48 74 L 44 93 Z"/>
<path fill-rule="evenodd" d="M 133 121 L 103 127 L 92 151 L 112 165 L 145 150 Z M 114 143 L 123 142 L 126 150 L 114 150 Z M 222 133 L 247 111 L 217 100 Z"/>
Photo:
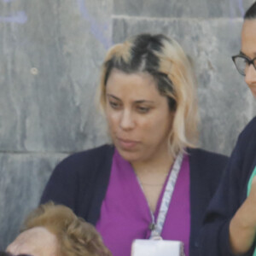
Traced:
<path fill-rule="evenodd" d="M 58 241 L 55 235 L 43 227 L 35 227 L 20 233 L 6 249 L 14 255 L 57 256 Z"/>

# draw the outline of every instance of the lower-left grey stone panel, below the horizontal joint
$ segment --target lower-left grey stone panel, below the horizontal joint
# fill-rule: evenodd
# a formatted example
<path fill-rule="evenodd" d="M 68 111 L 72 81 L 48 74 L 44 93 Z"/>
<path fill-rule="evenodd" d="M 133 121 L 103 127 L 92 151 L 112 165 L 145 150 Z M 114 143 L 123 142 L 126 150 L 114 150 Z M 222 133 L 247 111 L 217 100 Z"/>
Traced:
<path fill-rule="evenodd" d="M 66 154 L 0 154 L 0 250 L 18 234 L 57 162 Z"/>

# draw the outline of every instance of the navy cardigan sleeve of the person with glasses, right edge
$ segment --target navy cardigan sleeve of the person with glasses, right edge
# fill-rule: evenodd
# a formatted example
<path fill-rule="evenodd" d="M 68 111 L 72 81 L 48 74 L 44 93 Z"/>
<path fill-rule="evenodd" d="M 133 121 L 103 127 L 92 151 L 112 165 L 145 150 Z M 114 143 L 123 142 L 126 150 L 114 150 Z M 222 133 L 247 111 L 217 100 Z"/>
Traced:
<path fill-rule="evenodd" d="M 201 233 L 202 256 L 235 255 L 230 252 L 230 220 L 247 197 L 247 183 L 255 166 L 256 118 L 238 137 L 218 191 L 207 209 Z M 253 255 L 253 247 L 244 255 Z"/>

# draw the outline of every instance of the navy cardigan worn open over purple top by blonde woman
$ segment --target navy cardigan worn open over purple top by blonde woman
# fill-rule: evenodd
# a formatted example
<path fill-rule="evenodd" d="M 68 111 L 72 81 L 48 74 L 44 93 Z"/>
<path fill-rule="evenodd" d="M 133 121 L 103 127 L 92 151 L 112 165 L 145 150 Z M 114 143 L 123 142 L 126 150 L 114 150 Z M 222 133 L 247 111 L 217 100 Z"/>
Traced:
<path fill-rule="evenodd" d="M 108 189 L 113 146 L 104 145 L 73 154 L 55 167 L 41 203 L 64 204 L 91 224 L 96 224 Z M 208 202 L 215 192 L 227 157 L 202 149 L 189 149 L 190 256 L 198 255 L 199 230 Z"/>

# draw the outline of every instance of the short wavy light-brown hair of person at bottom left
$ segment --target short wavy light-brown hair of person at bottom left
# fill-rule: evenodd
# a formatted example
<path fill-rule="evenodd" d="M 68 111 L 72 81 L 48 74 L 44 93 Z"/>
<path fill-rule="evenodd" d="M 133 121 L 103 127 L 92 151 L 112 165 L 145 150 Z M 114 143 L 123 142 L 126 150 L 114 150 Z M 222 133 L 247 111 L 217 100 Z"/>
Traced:
<path fill-rule="evenodd" d="M 111 256 L 93 225 L 53 202 L 39 206 L 26 218 L 21 232 L 44 227 L 57 237 L 61 256 Z"/>

